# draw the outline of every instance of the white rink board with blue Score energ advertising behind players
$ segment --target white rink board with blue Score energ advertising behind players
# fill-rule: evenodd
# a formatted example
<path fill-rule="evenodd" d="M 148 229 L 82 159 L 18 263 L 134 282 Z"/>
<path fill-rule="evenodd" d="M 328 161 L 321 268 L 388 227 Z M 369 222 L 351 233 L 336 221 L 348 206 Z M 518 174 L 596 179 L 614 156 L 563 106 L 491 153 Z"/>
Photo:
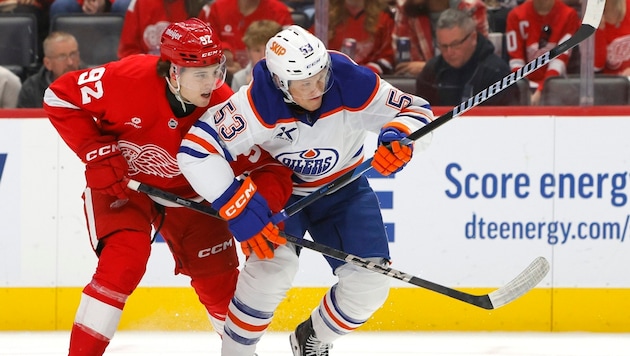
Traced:
<path fill-rule="evenodd" d="M 603 229 L 618 227 L 620 235 L 630 230 L 630 143 L 625 137 L 629 129 L 630 118 L 625 117 L 550 116 L 467 116 L 440 127 L 429 149 L 416 152 L 395 178 L 371 179 L 375 190 L 393 192 L 393 209 L 383 210 L 384 220 L 395 224 L 392 267 L 451 287 L 497 287 L 535 257 L 544 256 L 552 272 L 541 287 L 630 287 L 623 272 L 630 267 L 625 257 L 630 242 L 625 235 L 623 241 L 616 236 L 601 238 Z M 365 152 L 372 152 L 374 140 L 369 138 Z M 0 120 L 3 154 L 0 285 L 83 286 L 96 258 L 80 199 L 82 164 L 43 119 Z M 478 179 L 465 185 L 471 174 Z M 497 196 L 482 196 L 482 179 L 491 182 L 498 177 L 500 183 L 502 176 L 510 174 L 508 184 L 498 184 Z M 572 191 L 567 188 L 564 197 L 558 195 L 557 182 L 541 188 L 542 177 L 557 180 L 561 175 L 571 175 L 582 184 Z M 613 176 L 617 183 L 625 183 L 615 199 Z M 516 177 L 519 189 L 515 189 Z M 605 177 L 599 185 L 598 177 Z M 447 192 L 455 195 L 457 182 L 479 196 L 448 197 Z M 492 195 L 491 186 L 485 187 L 486 195 Z M 505 197 L 501 197 L 502 187 Z M 543 196 L 552 189 L 553 198 Z M 480 238 L 480 219 L 486 227 L 497 224 L 494 232 L 483 231 L 494 238 Z M 518 224 L 535 229 L 528 232 L 529 237 L 512 238 Z M 560 229 L 557 242 L 550 238 L 550 226 L 566 229 L 569 224 L 566 241 Z M 600 237 L 573 238 L 578 224 Z M 304 251 L 296 285 L 330 285 L 334 279 L 322 273 L 329 271 L 323 261 L 319 254 Z M 154 244 L 142 285 L 188 285 L 186 277 L 173 276 L 172 271 L 168 249 L 163 243 Z"/>

